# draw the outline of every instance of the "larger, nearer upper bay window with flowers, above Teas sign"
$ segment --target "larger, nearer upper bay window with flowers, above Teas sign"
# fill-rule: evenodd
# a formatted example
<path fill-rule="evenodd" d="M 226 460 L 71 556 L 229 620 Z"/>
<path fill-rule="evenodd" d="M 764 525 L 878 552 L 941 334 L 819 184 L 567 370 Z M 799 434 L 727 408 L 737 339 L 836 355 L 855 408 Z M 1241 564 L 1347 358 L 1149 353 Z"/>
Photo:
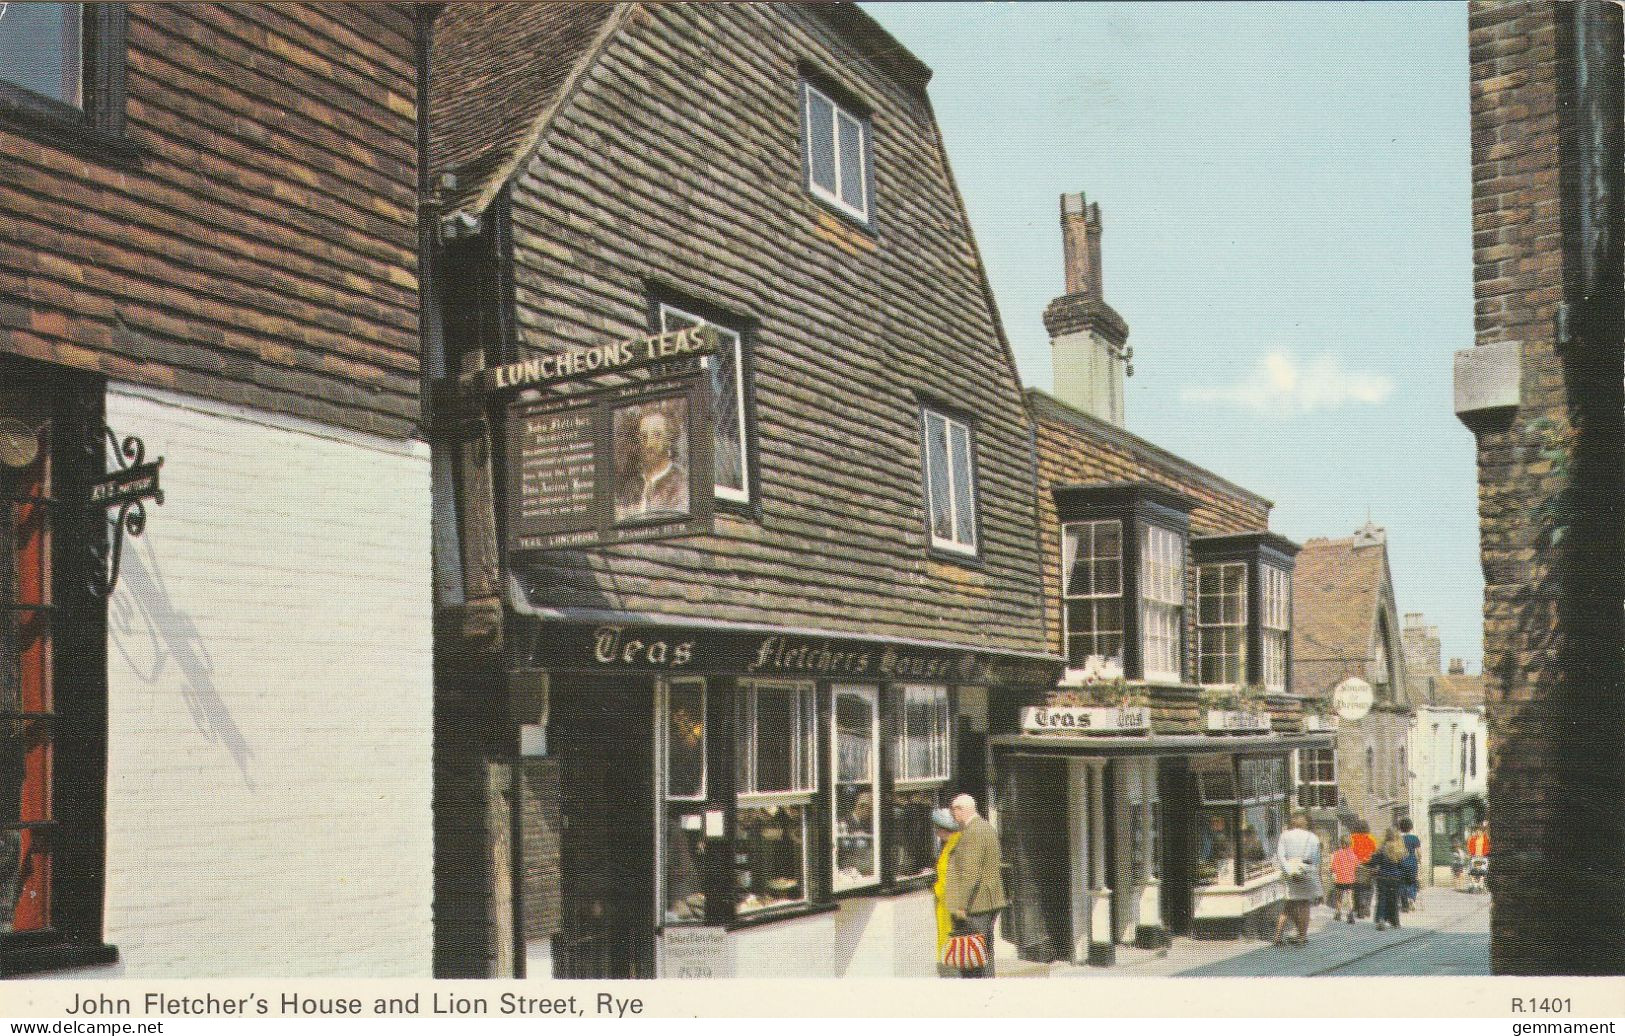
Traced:
<path fill-rule="evenodd" d="M 1190 500 L 1141 482 L 1061 487 L 1055 500 L 1068 669 L 1181 682 Z"/>

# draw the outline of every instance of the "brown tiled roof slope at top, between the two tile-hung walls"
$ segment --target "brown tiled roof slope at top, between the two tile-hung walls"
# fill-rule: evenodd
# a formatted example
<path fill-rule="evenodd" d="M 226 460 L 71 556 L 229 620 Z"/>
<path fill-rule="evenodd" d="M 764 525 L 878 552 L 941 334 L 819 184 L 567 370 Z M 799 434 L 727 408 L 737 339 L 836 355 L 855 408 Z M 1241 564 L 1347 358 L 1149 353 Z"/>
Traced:
<path fill-rule="evenodd" d="M 619 3 L 447 3 L 434 23 L 429 174 L 445 211 L 489 205 L 535 146 Z"/>

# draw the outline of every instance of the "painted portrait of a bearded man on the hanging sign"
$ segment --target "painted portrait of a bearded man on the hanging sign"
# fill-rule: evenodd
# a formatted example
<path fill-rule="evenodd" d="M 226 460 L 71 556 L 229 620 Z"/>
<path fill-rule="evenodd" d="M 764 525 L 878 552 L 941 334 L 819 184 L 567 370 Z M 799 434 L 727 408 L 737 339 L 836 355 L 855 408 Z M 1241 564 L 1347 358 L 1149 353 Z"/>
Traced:
<path fill-rule="evenodd" d="M 689 513 L 689 401 L 681 396 L 614 412 L 614 520 Z"/>

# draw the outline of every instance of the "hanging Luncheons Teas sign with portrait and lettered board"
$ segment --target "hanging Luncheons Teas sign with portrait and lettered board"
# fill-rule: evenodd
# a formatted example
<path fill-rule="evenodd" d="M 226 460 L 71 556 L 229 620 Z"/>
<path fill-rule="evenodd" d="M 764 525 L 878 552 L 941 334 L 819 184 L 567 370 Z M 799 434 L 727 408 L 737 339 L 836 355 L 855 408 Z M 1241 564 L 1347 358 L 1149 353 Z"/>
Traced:
<path fill-rule="evenodd" d="M 652 367 L 653 380 L 518 401 L 507 412 L 509 550 L 578 550 L 710 531 L 708 328 L 505 364 L 488 391 Z"/>

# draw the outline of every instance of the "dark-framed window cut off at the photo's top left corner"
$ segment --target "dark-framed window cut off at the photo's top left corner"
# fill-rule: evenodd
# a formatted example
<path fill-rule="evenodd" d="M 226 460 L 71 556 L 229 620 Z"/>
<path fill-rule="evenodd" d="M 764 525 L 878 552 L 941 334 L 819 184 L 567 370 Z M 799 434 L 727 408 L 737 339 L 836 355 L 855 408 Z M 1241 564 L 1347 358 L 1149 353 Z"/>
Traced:
<path fill-rule="evenodd" d="M 122 3 L 0 3 L 0 120 L 127 156 Z"/>

